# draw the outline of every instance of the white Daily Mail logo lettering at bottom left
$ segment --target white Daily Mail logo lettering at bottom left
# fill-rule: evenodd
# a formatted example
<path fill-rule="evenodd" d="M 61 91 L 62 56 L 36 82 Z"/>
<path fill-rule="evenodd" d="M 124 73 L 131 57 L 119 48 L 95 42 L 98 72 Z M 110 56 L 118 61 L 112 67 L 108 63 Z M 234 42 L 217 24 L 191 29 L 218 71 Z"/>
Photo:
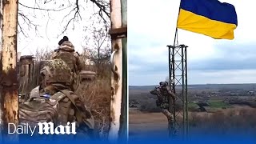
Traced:
<path fill-rule="evenodd" d="M 11 127 L 12 126 L 12 127 Z M 15 126 L 14 123 L 8 123 L 8 134 L 30 134 L 33 136 L 37 126 L 30 126 L 28 123 Z M 39 122 L 38 134 L 77 134 L 75 122 L 67 122 L 66 126 L 59 125 L 54 128 L 53 122 Z"/>

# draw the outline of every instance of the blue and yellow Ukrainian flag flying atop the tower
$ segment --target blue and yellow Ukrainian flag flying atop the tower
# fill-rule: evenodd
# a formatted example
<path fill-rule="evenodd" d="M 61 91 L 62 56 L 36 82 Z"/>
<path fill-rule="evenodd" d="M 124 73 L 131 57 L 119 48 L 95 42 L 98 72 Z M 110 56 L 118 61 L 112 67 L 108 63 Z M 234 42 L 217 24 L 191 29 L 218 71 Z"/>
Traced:
<path fill-rule="evenodd" d="M 181 0 L 177 27 L 216 39 L 234 39 L 238 18 L 233 5 L 218 0 Z"/>

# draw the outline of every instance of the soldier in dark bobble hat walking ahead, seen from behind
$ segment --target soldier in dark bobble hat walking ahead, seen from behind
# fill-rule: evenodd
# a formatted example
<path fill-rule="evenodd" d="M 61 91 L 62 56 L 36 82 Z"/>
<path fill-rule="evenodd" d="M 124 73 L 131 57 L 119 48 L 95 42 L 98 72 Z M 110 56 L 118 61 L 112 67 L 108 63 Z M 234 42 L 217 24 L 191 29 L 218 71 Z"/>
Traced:
<path fill-rule="evenodd" d="M 79 59 L 79 54 L 75 52 L 73 44 L 69 41 L 69 38 L 64 36 L 58 42 L 58 49 L 54 50 L 54 54 L 51 59 L 60 58 L 73 72 L 74 82 L 72 83 L 72 90 L 76 90 L 78 87 L 78 76 L 79 72 L 84 69 L 81 60 Z"/>

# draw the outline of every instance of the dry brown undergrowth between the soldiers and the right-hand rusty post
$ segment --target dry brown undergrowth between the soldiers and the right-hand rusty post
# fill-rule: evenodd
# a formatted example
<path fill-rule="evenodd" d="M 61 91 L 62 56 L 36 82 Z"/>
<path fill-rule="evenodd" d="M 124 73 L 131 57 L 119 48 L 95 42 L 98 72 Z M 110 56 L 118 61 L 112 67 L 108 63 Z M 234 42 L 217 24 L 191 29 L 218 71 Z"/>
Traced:
<path fill-rule="evenodd" d="M 90 108 L 95 128 L 101 138 L 107 138 L 110 126 L 110 78 L 98 78 L 87 85 L 81 85 L 76 94 L 82 95 L 86 106 Z"/>

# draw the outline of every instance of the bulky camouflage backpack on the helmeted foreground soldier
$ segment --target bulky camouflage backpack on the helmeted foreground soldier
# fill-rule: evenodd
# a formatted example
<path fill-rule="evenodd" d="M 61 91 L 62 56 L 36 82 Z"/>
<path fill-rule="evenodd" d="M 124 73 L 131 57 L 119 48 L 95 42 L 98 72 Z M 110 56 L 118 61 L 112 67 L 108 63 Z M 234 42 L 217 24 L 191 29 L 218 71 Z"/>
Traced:
<path fill-rule="evenodd" d="M 46 94 L 39 94 L 39 86 L 31 91 L 28 101 L 20 105 L 19 120 L 31 126 L 38 122 L 63 126 L 67 122 L 78 122 L 78 126 L 85 124 L 88 130 L 94 129 L 94 117 L 77 95 L 61 90 L 47 98 Z"/>

